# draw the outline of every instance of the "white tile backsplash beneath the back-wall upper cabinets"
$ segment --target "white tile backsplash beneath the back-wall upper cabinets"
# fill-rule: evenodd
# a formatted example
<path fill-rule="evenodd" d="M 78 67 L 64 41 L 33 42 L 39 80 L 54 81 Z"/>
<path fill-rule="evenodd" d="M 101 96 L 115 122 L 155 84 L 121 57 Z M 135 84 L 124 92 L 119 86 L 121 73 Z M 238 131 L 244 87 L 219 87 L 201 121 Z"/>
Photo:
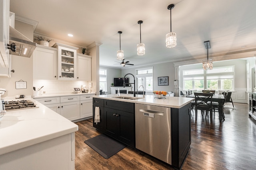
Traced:
<path fill-rule="evenodd" d="M 56 93 L 71 93 L 74 88 L 80 88 L 81 85 L 88 87 L 89 82 L 87 81 L 70 81 L 70 80 L 34 80 L 33 86 L 36 90 L 44 86 L 40 90 L 40 94 L 56 94 Z"/>

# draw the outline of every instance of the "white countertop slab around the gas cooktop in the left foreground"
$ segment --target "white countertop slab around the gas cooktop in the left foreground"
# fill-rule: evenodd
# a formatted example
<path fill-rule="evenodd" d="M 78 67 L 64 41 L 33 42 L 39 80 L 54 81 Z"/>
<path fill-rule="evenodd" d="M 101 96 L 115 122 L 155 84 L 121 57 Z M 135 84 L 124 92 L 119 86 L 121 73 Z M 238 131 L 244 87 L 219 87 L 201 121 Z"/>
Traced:
<path fill-rule="evenodd" d="M 24 100 L 32 100 L 38 108 L 7 111 L 0 121 L 0 155 L 78 131 L 78 125 L 30 97 Z"/>

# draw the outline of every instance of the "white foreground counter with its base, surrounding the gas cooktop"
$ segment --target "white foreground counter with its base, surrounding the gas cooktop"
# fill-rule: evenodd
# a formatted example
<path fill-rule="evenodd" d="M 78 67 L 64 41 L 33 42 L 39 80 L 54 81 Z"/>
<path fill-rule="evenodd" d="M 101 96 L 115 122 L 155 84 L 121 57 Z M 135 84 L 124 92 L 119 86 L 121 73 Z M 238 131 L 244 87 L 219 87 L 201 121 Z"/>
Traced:
<path fill-rule="evenodd" d="M 78 126 L 30 97 L 24 100 L 37 107 L 7 111 L 0 122 L 0 169 L 74 170 Z"/>

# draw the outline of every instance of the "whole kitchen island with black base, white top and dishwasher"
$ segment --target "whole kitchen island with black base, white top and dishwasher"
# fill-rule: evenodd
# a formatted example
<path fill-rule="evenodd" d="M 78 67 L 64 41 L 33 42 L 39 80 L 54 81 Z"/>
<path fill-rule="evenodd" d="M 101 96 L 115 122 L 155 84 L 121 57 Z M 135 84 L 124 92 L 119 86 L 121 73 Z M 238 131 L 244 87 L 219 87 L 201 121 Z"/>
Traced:
<path fill-rule="evenodd" d="M 93 96 L 93 126 L 176 169 L 190 150 L 192 98 L 132 94 Z M 95 107 L 100 122 L 95 123 Z M 98 110 L 98 109 L 97 109 Z"/>

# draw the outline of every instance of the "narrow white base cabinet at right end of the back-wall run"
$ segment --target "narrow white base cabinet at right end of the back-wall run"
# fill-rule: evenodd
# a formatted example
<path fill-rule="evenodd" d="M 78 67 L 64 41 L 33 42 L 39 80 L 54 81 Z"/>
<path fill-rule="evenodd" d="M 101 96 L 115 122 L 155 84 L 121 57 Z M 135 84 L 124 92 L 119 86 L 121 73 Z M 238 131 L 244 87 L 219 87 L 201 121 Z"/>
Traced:
<path fill-rule="evenodd" d="M 80 119 L 92 116 L 92 96 L 80 96 Z"/>

